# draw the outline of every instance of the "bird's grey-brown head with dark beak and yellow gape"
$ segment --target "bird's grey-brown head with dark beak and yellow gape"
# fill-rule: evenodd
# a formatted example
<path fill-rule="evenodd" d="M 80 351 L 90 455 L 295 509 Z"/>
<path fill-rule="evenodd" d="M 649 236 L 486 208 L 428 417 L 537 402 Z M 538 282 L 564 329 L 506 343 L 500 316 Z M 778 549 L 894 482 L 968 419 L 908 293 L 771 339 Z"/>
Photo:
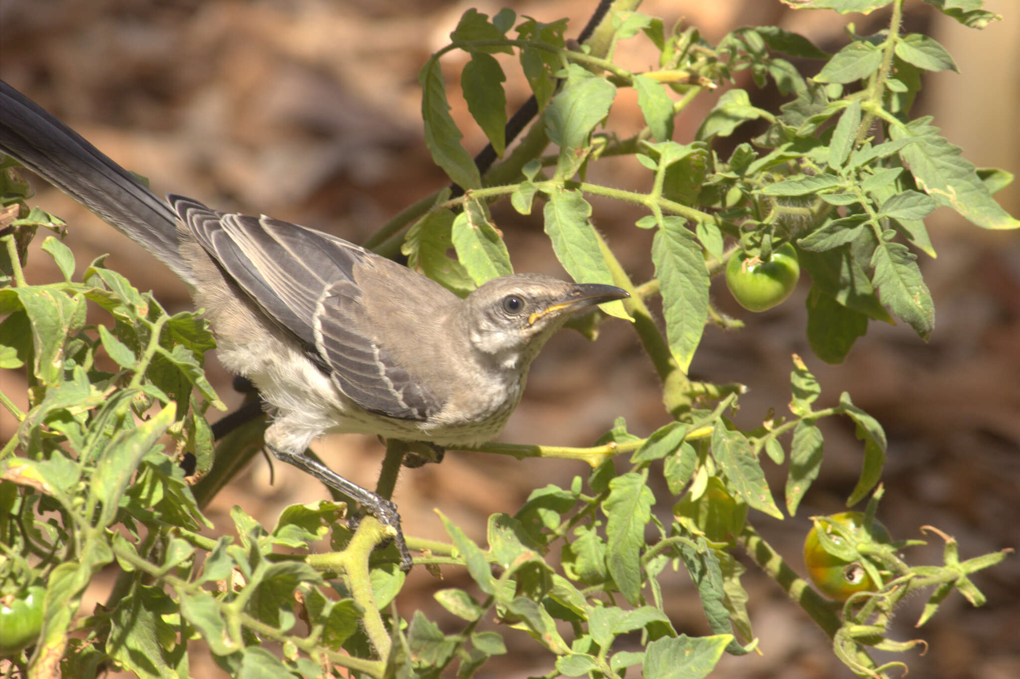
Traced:
<path fill-rule="evenodd" d="M 567 318 L 629 297 L 614 285 L 574 283 L 536 273 L 501 276 L 464 300 L 472 347 L 504 368 L 526 368 Z"/>

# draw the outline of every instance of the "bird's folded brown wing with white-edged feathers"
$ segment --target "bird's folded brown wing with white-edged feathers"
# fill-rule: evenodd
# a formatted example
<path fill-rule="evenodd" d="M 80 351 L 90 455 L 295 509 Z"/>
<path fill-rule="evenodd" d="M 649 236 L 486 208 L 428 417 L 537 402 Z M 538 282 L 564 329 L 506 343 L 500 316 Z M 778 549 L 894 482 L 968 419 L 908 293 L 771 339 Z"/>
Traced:
<path fill-rule="evenodd" d="M 425 420 L 442 408 L 387 351 L 358 282 L 359 268 L 392 267 L 401 277 L 417 274 L 321 231 L 266 216 L 210 210 L 180 196 L 169 201 L 222 270 L 310 350 L 311 358 L 355 403 L 407 420 Z"/>

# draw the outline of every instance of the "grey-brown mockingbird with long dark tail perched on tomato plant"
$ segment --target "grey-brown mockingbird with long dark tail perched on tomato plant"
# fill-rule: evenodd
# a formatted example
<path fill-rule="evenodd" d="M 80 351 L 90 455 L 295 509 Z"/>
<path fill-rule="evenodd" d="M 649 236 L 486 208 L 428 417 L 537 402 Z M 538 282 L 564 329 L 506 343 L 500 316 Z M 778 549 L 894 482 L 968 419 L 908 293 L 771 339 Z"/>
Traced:
<path fill-rule="evenodd" d="M 305 454 L 324 432 L 438 447 L 496 436 L 539 350 L 567 317 L 627 293 L 538 274 L 460 299 L 320 231 L 161 200 L 35 102 L 0 82 L 0 150 L 173 270 L 206 309 L 219 360 L 268 404 L 278 460 L 354 499 L 397 531 L 396 506 Z"/>

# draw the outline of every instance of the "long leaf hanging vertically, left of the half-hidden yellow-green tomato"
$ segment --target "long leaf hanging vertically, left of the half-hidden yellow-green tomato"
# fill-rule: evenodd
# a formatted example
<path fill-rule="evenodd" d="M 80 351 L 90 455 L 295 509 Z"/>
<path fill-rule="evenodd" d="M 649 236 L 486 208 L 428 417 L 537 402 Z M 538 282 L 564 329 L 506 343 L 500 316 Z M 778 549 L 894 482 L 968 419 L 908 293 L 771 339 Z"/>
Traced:
<path fill-rule="evenodd" d="M 641 600 L 641 550 L 655 503 L 646 480 L 647 474 L 634 472 L 617 476 L 609 482 L 609 498 L 602 505 L 608 519 L 606 564 L 620 593 L 633 606 Z"/>

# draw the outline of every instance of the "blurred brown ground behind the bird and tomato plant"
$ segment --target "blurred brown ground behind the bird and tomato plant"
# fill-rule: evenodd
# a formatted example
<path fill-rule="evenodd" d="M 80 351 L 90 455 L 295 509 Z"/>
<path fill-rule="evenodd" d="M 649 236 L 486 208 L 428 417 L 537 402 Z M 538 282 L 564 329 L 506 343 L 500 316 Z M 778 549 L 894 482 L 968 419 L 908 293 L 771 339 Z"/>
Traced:
<path fill-rule="evenodd" d="M 465 9 L 476 6 L 492 14 L 504 4 L 541 20 L 568 16 L 572 36 L 595 5 L 580 0 L 3 0 L 0 76 L 114 160 L 147 175 L 157 193 L 192 195 L 219 209 L 264 212 L 360 242 L 401 208 L 444 186 L 421 139 L 416 73 L 446 44 Z M 976 32 L 920 2 L 908 3 L 907 29 L 933 35 L 963 73 L 927 76 L 918 109 L 935 115 L 945 136 L 978 166 L 1020 172 L 1020 7 L 1009 0 L 987 6 L 1006 20 Z M 685 17 L 713 42 L 738 25 L 774 23 L 805 33 L 830 52 L 845 44 L 847 21 L 856 21 L 864 34 L 886 21 L 883 13 L 794 12 L 771 0 L 658 0 L 647 2 L 643 11 L 663 16 L 667 24 Z M 655 63 L 643 38 L 622 43 L 617 54 L 634 69 Z M 466 123 L 455 75 L 461 60 L 455 53 L 444 63 L 454 114 Z M 518 69 L 511 66 L 507 72 L 508 99 L 515 107 L 528 93 Z M 774 92 L 752 96 L 760 105 L 776 104 Z M 703 99 L 678 119 L 677 141 L 691 139 L 714 101 Z M 642 124 L 632 93 L 621 92 L 610 126 L 627 134 Z M 463 127 L 465 146 L 480 149 L 480 133 L 471 124 Z M 647 191 L 647 172 L 636 167 L 604 163 L 596 180 Z M 1016 185 L 997 198 L 1020 214 Z M 171 311 L 190 305 L 184 285 L 162 265 L 72 201 L 41 187 L 38 202 L 68 222 L 67 243 L 80 267 L 109 252 L 110 266 L 140 289 L 156 291 Z M 495 214 L 517 270 L 562 272 L 538 219 L 522 218 L 507 206 L 497 207 Z M 652 274 L 650 233 L 633 227 L 639 216 L 627 206 L 595 201 L 597 225 L 634 280 L 644 281 Z M 1020 543 L 1020 234 L 982 230 L 947 210 L 928 223 L 939 254 L 937 260 L 923 255 L 921 260 L 937 314 L 929 344 L 905 324 L 872 323 L 844 365 L 825 366 L 804 337 L 806 285 L 782 307 L 755 315 L 736 307 L 717 281 L 714 302 L 746 320 L 748 329 L 723 333 L 709 327 L 692 370 L 701 379 L 748 384 L 738 419 L 750 426 L 769 407 L 783 412 L 789 354 L 804 356 L 822 384 L 823 406 L 846 389 L 884 425 L 889 452 L 880 516 L 894 535 L 919 537 L 918 526 L 934 524 L 956 535 L 968 558 Z M 29 275 L 49 280 L 56 269 L 36 253 Z M 224 399 L 237 404 L 240 397 L 214 359 L 208 369 Z M 4 373 L 0 388 L 18 397 L 23 393 L 19 379 Z M 666 421 L 654 372 L 635 336 L 624 323 L 612 321 L 595 344 L 572 332 L 550 343 L 502 439 L 590 445 L 617 415 L 643 435 Z M 6 412 L 0 417 L 5 418 L 0 438 L 6 439 L 14 423 Z M 861 446 L 853 429 L 834 421 L 823 427 L 825 463 L 799 516 L 783 522 L 754 517 L 799 569 L 807 517 L 838 511 L 860 467 Z M 317 449 L 341 474 L 373 483 L 380 461 L 374 439 L 330 437 Z M 778 491 L 785 469 L 765 465 Z M 405 472 L 396 500 L 410 534 L 444 538 L 432 512 L 440 508 L 483 540 L 489 514 L 512 513 L 533 487 L 567 484 L 585 473 L 577 464 L 452 453 L 441 466 Z M 240 505 L 271 525 L 286 505 L 320 497 L 325 493 L 316 482 L 280 465 L 270 485 L 268 466 L 260 458 L 220 494 L 210 514 L 230 530 L 226 513 Z M 666 517 L 671 501 L 661 497 L 656 511 Z M 940 544 L 932 541 L 909 558 L 935 563 L 939 555 Z M 458 629 L 431 592 L 466 586 L 467 579 L 456 569 L 445 569 L 444 576 L 436 580 L 416 569 L 399 599 L 402 614 L 409 617 L 421 608 L 446 629 Z M 1018 560 L 975 580 L 989 598 L 982 609 L 971 609 L 954 594 L 921 630 L 913 629 L 913 621 L 923 599 L 897 619 L 895 637 L 923 636 L 931 643 L 925 657 L 902 658 L 912 676 L 1020 676 Z M 851 676 L 821 632 L 771 581 L 753 566 L 745 581 L 763 655 L 726 658 L 713 676 Z M 665 591 L 679 631 L 708 632 L 685 575 L 668 576 Z M 98 587 L 84 610 L 105 595 Z M 479 676 L 523 677 L 551 669 L 550 658 L 523 634 L 510 631 L 508 642 L 511 654 Z M 196 658 L 192 674 L 222 676 L 208 658 Z"/>

